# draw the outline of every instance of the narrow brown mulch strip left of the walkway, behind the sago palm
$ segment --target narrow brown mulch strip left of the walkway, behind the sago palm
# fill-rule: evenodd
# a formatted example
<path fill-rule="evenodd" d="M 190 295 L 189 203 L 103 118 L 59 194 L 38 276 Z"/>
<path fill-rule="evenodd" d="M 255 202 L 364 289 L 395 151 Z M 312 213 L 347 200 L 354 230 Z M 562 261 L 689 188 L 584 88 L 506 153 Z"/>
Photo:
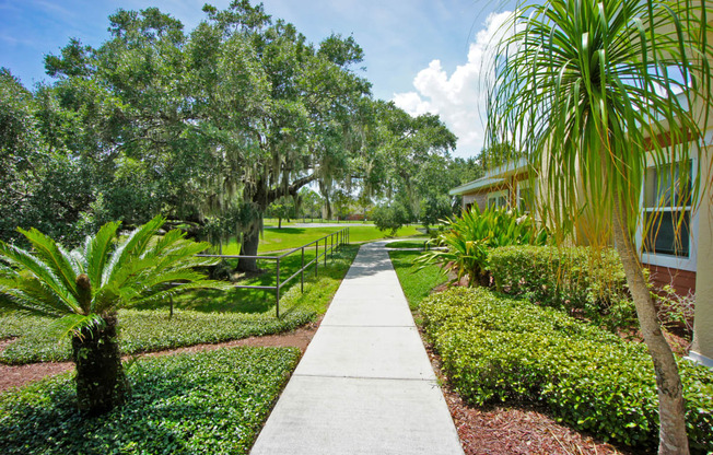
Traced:
<path fill-rule="evenodd" d="M 319 322 L 311 323 L 305 326 L 299 327 L 293 331 L 278 335 L 267 335 L 265 337 L 249 337 L 241 340 L 233 340 L 226 342 L 219 342 L 214 345 L 196 345 L 187 348 L 171 349 L 165 351 L 156 351 L 142 353 L 137 357 L 156 357 L 156 355 L 171 355 L 183 352 L 200 352 L 210 351 L 220 348 L 231 348 L 236 346 L 267 346 L 267 347 L 297 347 L 304 353 L 305 349 L 312 341 L 315 331 L 319 327 Z M 0 351 L 2 351 L 13 339 L 0 340 Z M 128 359 L 125 358 L 125 359 Z M 43 363 L 28 363 L 26 365 L 3 365 L 0 364 L 0 393 L 11 388 L 21 387 L 34 381 L 42 380 L 47 376 L 54 376 L 66 371 L 73 370 L 72 362 L 43 362 Z"/>

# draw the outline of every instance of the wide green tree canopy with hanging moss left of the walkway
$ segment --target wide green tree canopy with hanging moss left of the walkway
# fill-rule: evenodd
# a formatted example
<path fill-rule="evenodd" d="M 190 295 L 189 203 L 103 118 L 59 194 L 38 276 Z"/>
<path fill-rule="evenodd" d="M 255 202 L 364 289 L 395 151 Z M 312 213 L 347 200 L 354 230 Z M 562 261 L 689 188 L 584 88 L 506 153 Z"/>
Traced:
<path fill-rule="evenodd" d="M 247 0 L 203 13 L 187 32 L 120 9 L 98 47 L 48 55 L 54 82 L 33 91 L 2 70 L 2 238 L 38 226 L 72 244 L 163 214 L 200 238 L 241 236 L 249 255 L 268 207 L 305 187 L 328 210 L 341 191 L 404 195 L 419 213 L 422 170 L 449 166 L 456 138 L 374 100 L 352 36 L 309 43 Z"/>

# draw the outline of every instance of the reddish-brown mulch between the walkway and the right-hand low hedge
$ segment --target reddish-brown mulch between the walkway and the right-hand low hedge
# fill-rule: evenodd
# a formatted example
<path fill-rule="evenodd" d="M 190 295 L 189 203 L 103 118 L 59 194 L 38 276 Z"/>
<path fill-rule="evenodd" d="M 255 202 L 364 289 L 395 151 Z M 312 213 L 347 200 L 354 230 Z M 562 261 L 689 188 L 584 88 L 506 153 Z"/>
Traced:
<path fill-rule="evenodd" d="M 543 407 L 529 404 L 475 407 L 453 390 L 443 375 L 441 358 L 433 351 L 423 332 L 421 338 L 431 365 L 442 384 L 451 416 L 466 455 L 640 455 L 615 447 L 558 423 Z"/>

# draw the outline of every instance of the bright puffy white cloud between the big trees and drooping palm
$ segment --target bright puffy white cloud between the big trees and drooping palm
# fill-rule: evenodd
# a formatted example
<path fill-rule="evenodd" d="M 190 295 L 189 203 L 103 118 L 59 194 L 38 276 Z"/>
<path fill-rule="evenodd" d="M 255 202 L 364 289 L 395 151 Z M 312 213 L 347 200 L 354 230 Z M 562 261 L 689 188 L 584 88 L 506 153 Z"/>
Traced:
<path fill-rule="evenodd" d="M 395 93 L 393 101 L 409 114 L 439 114 L 458 137 L 456 155 L 477 154 L 483 144 L 486 78 L 492 71 L 492 47 L 502 36 L 502 25 L 511 12 L 492 13 L 486 27 L 470 43 L 467 62 L 448 73 L 440 60 L 433 60 L 413 79 L 416 92 Z"/>

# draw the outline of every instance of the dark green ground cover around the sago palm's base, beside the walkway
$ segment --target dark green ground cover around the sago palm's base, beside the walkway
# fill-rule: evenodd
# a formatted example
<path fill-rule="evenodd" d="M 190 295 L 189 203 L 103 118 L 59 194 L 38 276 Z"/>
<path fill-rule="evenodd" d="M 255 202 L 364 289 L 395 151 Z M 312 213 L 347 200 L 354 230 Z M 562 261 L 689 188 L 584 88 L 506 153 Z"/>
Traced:
<path fill-rule="evenodd" d="M 0 447 L 11 454 L 247 454 L 300 359 L 296 348 L 234 348 L 140 359 L 132 394 L 92 419 L 69 374 L 0 395 Z"/>

